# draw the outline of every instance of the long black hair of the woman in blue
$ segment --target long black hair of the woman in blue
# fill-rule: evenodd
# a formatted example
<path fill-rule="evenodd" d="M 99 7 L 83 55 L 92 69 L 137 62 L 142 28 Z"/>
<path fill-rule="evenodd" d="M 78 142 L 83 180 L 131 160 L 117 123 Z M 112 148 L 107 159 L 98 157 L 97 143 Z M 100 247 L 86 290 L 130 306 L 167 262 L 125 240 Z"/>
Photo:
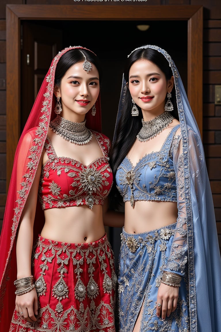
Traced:
<path fill-rule="evenodd" d="M 156 66 L 158 66 L 158 68 L 160 68 L 160 70 L 165 74 L 167 80 L 171 79 L 173 73 L 164 55 L 152 48 L 141 48 L 131 53 L 127 59 L 124 68 L 124 78 L 126 82 L 129 82 L 129 71 L 132 64 L 140 59 L 151 61 Z M 174 118 L 179 120 L 175 86 L 173 86 L 171 95 L 171 102 L 174 107 L 174 110 L 171 112 L 171 114 L 174 116 Z M 124 103 L 121 110 L 121 118 L 119 119 L 119 122 L 115 128 L 115 140 L 110 151 L 110 165 L 114 175 L 114 185 L 112 186 L 112 191 L 110 194 L 110 204 L 112 208 L 118 207 L 122 202 L 122 197 L 116 188 L 115 176 L 117 168 L 130 151 L 136 140 L 137 134 L 142 127 L 141 109 L 137 105 L 139 115 L 137 117 L 132 117 L 132 107 L 133 103 L 131 94 L 127 88 L 126 91 L 124 91 Z"/>

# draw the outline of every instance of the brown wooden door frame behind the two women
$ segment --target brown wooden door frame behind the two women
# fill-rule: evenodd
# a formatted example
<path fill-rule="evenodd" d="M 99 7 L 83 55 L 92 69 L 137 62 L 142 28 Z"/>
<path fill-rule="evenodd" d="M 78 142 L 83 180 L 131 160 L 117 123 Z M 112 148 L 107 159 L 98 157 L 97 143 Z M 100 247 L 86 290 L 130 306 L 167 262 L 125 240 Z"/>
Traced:
<path fill-rule="evenodd" d="M 202 135 L 203 7 L 6 5 L 6 188 L 20 137 L 21 20 L 183 20 L 188 22 L 187 94 Z M 173 31 L 168 32 L 169 35 Z M 182 41 L 180 41 L 182 42 Z M 178 43 L 179 44 L 179 43 Z"/>

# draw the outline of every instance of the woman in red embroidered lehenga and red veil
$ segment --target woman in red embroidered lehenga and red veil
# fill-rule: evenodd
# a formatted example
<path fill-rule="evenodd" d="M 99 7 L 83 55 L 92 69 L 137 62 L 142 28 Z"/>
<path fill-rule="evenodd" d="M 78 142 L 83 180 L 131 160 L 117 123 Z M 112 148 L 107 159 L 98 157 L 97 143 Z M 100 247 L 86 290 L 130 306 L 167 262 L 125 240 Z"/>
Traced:
<path fill-rule="evenodd" d="M 1 332 L 115 332 L 99 83 L 93 52 L 59 52 L 19 140 L 0 241 Z"/>

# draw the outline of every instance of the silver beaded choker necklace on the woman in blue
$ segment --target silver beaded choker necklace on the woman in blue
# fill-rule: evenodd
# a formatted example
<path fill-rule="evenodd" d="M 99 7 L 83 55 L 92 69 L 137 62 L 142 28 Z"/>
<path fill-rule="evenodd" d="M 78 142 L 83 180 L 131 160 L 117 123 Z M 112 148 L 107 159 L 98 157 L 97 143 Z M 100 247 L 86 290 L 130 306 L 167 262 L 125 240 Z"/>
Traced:
<path fill-rule="evenodd" d="M 140 142 L 146 142 L 152 139 L 166 128 L 173 119 L 174 117 L 169 112 L 162 113 L 150 121 L 144 121 L 142 119 L 143 126 L 137 134 L 138 140 Z"/>

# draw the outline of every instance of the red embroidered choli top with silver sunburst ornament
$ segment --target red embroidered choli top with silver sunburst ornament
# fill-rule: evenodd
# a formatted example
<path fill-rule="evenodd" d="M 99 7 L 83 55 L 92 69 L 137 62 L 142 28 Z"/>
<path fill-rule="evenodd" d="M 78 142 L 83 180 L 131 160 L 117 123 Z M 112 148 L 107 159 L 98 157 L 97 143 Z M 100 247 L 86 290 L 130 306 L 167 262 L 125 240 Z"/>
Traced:
<path fill-rule="evenodd" d="M 89 165 L 68 157 L 58 157 L 47 137 L 44 148 L 48 160 L 41 172 L 38 197 L 42 209 L 94 204 L 102 205 L 110 192 L 113 175 L 108 163 L 110 140 L 93 131 L 103 156 Z"/>

